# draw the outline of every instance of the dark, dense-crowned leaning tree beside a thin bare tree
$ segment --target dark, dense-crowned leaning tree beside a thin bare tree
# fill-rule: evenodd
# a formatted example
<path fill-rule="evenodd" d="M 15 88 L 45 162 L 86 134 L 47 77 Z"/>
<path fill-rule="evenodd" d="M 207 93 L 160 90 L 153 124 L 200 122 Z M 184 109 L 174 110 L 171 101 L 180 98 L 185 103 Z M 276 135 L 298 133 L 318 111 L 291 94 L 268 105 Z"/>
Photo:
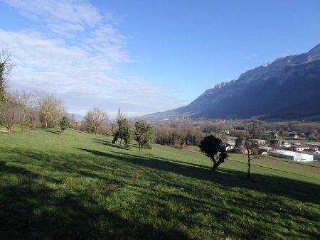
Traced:
<path fill-rule="evenodd" d="M 225 146 L 223 146 L 222 141 L 213 135 L 209 135 L 203 138 L 199 147 L 208 158 L 211 158 L 211 160 L 213 160 L 213 167 L 211 168 L 211 170 L 213 171 L 217 169 L 218 166 L 223 163 L 226 158 L 228 158 L 228 154 L 225 151 Z M 218 156 L 218 159 L 215 159 L 219 151 L 220 154 Z"/>

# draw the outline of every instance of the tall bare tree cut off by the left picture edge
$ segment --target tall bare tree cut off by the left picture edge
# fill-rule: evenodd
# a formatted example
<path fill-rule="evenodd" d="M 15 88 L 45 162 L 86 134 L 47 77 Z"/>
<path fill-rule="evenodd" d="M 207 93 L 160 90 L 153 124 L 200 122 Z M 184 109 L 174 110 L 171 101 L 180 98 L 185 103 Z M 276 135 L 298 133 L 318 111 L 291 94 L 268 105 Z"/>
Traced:
<path fill-rule="evenodd" d="M 11 53 L 8 48 L 2 48 L 0 51 L 0 103 L 4 102 L 6 95 L 6 81 L 14 64 L 11 60 Z"/>

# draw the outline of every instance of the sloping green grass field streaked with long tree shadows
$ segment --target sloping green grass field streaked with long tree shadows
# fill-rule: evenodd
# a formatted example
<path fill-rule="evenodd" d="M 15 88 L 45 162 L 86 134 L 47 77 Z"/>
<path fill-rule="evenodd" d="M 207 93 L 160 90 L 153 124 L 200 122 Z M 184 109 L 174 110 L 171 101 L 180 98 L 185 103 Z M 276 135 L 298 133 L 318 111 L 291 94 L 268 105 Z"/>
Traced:
<path fill-rule="evenodd" d="M 0 134 L 1 239 L 319 239 L 320 165 Z"/>

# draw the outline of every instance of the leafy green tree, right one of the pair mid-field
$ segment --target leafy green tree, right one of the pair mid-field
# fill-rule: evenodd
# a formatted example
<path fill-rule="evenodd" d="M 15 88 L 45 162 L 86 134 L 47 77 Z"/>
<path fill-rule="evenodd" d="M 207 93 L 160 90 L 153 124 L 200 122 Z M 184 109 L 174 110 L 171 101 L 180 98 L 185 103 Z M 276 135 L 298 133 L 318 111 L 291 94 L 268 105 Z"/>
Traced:
<path fill-rule="evenodd" d="M 134 126 L 134 140 L 137 141 L 139 145 L 139 151 L 141 151 L 142 148 L 150 148 L 151 126 L 144 124 L 143 121 L 137 121 Z"/>

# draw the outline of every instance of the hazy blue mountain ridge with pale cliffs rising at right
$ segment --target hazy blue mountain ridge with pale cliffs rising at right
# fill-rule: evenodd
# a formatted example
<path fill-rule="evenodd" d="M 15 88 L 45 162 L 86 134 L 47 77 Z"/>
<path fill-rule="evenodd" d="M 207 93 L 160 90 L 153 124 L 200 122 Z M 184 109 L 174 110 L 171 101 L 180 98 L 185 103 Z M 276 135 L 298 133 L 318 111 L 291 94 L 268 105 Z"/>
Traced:
<path fill-rule="evenodd" d="M 316 119 L 320 116 L 320 45 L 242 73 L 186 107 L 142 119 Z M 319 117 L 320 119 L 320 117 Z"/>

